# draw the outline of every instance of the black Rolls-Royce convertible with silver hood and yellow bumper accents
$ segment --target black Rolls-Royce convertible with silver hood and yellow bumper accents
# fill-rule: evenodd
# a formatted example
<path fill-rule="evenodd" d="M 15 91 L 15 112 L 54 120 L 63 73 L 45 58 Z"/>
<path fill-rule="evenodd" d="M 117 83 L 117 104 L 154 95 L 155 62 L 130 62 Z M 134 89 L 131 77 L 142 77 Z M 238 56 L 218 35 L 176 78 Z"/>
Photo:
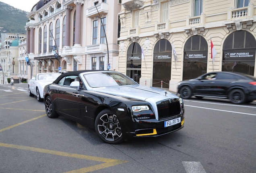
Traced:
<path fill-rule="evenodd" d="M 66 72 L 44 87 L 43 96 L 49 118 L 63 116 L 87 125 L 105 143 L 157 137 L 184 127 L 178 93 L 141 86 L 116 71 Z"/>

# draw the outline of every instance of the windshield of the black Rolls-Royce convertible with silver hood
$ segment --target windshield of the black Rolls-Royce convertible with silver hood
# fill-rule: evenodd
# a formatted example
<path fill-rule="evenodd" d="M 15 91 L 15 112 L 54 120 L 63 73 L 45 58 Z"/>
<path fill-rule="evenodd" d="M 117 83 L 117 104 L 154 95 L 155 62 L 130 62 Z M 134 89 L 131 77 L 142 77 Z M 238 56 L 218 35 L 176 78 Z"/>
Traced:
<path fill-rule="evenodd" d="M 137 84 L 128 76 L 116 72 L 90 73 L 84 74 L 84 77 L 90 87 L 110 87 Z"/>

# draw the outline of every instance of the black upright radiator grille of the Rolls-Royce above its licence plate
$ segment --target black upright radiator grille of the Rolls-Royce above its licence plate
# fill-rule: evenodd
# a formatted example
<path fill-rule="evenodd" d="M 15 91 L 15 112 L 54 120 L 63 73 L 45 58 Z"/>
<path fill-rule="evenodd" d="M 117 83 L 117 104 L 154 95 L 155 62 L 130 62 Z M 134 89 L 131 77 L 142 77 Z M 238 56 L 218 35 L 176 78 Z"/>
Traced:
<path fill-rule="evenodd" d="M 181 112 L 180 99 L 169 99 L 157 102 L 159 120 L 175 117 Z"/>

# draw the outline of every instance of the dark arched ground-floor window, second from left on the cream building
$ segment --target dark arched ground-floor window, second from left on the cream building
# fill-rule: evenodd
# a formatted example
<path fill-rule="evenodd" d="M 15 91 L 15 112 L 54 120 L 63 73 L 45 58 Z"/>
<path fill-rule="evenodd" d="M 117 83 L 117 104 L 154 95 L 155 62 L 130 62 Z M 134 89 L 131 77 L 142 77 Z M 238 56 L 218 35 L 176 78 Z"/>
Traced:
<path fill-rule="evenodd" d="M 169 88 L 171 80 L 171 43 L 166 39 L 161 39 L 155 44 L 153 63 L 153 87 Z"/>

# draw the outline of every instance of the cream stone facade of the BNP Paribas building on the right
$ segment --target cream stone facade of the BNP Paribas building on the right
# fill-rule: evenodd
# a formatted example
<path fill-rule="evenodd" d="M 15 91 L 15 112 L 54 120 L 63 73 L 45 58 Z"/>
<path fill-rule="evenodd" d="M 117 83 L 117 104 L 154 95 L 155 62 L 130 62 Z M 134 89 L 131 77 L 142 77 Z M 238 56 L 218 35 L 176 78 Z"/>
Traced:
<path fill-rule="evenodd" d="M 256 76 L 256 0 L 122 0 L 119 15 L 116 69 L 142 85 L 176 91 L 211 71 Z"/>

